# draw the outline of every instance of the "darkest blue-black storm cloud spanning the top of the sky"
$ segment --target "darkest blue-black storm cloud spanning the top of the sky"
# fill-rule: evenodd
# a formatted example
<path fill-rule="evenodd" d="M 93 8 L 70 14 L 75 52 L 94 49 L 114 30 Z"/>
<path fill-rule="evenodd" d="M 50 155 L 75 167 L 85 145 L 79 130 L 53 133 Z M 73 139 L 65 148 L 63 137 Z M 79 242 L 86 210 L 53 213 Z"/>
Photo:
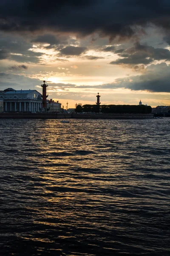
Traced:
<path fill-rule="evenodd" d="M 8 32 L 53 30 L 89 35 L 131 37 L 135 25 L 170 28 L 170 1 L 40 0 L 0 1 L 0 29 Z M 139 31 L 139 27 L 138 27 Z"/>

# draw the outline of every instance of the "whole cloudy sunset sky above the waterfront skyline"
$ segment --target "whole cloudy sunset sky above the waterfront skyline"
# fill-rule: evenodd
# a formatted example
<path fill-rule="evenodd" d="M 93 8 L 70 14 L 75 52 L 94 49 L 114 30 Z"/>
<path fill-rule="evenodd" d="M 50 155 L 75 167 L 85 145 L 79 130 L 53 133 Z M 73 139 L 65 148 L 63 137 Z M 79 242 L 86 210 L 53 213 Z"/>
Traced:
<path fill-rule="evenodd" d="M 170 105 L 170 1 L 1 0 L 0 90 L 75 104 Z"/>

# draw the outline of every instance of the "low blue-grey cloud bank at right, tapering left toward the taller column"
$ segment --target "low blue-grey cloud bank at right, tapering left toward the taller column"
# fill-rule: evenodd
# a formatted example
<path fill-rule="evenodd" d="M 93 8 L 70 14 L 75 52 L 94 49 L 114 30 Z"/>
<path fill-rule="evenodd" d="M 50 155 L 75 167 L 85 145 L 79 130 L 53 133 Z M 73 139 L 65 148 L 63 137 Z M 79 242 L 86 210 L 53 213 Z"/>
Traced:
<path fill-rule="evenodd" d="M 165 92 L 170 93 L 170 65 L 165 62 L 161 64 L 151 64 L 147 67 L 141 76 L 128 76 L 116 79 L 111 83 L 79 85 L 76 84 L 50 84 L 50 87 L 73 88 L 77 89 L 129 89 L 135 91 L 148 91 L 148 92 Z"/>

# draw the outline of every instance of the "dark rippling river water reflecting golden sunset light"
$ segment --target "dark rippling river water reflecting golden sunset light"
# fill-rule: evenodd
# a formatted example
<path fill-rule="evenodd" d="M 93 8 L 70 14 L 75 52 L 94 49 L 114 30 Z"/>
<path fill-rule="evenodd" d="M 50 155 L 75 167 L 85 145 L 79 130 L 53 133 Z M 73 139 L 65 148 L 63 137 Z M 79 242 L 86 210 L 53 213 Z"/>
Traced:
<path fill-rule="evenodd" d="M 170 118 L 0 119 L 0 256 L 170 255 Z"/>

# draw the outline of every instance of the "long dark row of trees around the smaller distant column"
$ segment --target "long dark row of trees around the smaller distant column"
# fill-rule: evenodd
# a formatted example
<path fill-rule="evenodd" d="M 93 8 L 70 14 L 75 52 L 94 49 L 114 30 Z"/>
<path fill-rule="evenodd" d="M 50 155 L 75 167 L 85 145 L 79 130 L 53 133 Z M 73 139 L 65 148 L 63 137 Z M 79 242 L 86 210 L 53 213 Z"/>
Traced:
<path fill-rule="evenodd" d="M 152 112 L 150 106 L 145 105 L 78 105 L 77 113 L 114 113 L 114 114 L 149 114 Z"/>

